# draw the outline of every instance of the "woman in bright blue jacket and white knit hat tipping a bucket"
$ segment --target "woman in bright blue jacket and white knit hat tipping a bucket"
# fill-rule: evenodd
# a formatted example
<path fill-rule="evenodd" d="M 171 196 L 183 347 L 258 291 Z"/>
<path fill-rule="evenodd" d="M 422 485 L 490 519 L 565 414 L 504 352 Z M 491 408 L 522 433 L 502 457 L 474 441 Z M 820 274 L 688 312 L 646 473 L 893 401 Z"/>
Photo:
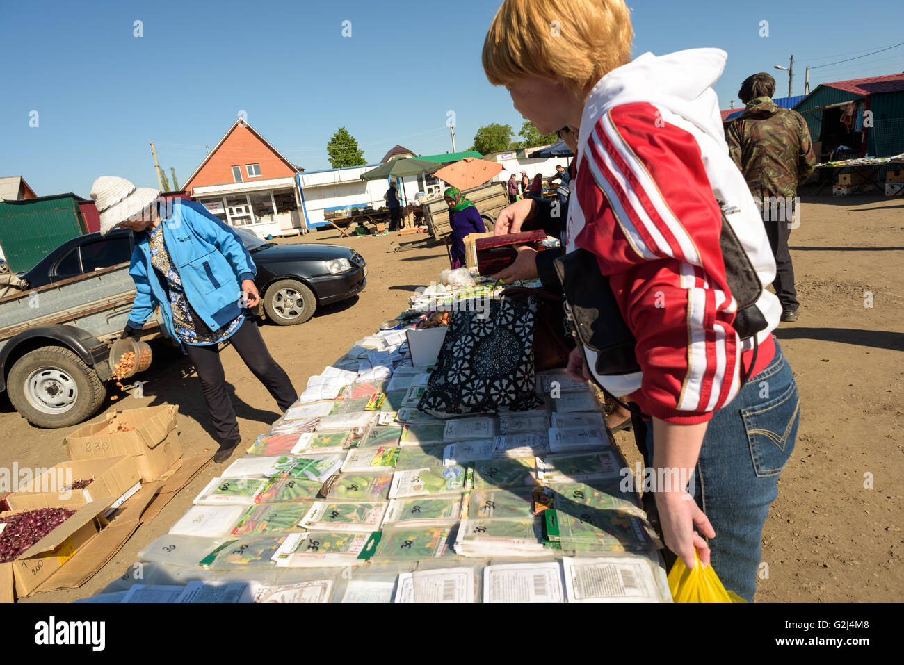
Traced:
<path fill-rule="evenodd" d="M 158 205 L 158 196 L 155 190 L 136 189 L 110 176 L 96 180 L 91 189 L 101 233 L 118 227 L 135 232 L 128 272 L 136 296 L 122 336 L 137 339 L 160 307 L 166 333 L 182 345 L 198 372 L 220 444 L 213 459 L 221 463 L 239 445 L 240 435 L 224 385 L 220 342 L 231 342 L 282 411 L 295 402 L 297 393 L 270 356 L 250 314 L 249 308 L 259 303 L 257 267 L 238 234 L 196 201 L 175 199 L 164 206 Z"/>

